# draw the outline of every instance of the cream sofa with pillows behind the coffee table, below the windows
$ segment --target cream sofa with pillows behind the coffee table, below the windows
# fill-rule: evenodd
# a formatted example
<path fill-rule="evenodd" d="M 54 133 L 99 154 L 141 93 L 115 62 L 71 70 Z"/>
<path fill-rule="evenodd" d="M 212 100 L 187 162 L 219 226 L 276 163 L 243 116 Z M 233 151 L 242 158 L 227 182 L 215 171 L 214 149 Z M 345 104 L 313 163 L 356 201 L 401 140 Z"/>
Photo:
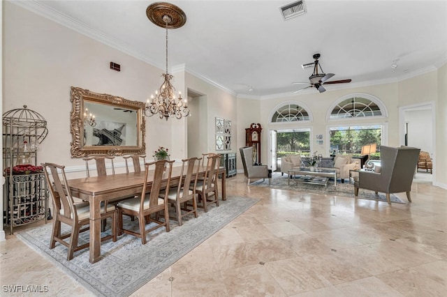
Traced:
<path fill-rule="evenodd" d="M 281 158 L 281 175 L 287 173 L 288 170 L 300 167 L 309 167 L 310 157 L 302 157 L 300 155 L 285 155 Z M 321 158 L 318 165 L 319 169 L 335 169 L 337 172 L 337 179 L 341 179 L 344 183 L 345 178 L 349 178 L 349 170 L 356 166 L 360 168 L 359 162 L 356 164 L 356 159 L 352 155 L 335 155 L 334 158 Z"/>

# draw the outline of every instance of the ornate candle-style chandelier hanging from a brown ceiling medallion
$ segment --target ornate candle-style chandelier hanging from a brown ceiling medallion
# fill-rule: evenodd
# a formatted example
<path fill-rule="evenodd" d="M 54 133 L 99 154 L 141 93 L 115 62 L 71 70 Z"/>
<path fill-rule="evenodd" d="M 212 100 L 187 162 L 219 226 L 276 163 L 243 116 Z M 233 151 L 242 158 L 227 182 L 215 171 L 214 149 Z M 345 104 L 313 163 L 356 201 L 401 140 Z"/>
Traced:
<path fill-rule="evenodd" d="M 177 6 L 166 3 L 156 2 L 147 6 L 146 15 L 151 22 L 157 26 L 166 28 L 166 73 L 163 73 L 163 84 L 155 91 L 155 96 L 151 95 L 145 104 L 145 116 L 159 114 L 168 121 L 170 116 L 182 119 L 189 115 L 187 99 L 182 99 L 182 93 L 175 94 L 175 88 L 171 83 L 173 75 L 168 73 L 168 29 L 177 29 L 186 22 L 186 15 L 183 10 Z"/>

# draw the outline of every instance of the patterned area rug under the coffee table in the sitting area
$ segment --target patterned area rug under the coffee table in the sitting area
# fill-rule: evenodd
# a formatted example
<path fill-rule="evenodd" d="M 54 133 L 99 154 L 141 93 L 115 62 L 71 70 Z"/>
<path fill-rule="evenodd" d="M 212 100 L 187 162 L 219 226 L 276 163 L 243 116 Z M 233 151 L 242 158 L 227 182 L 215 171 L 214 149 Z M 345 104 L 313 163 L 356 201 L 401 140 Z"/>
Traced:
<path fill-rule="evenodd" d="M 333 196 L 342 196 L 342 197 L 351 197 L 357 199 L 368 199 L 368 200 L 376 200 L 376 201 L 386 201 L 386 195 L 383 193 L 379 193 L 376 195 L 372 190 L 359 189 L 358 196 L 354 196 L 354 185 L 352 183 L 348 183 L 347 179 L 344 183 L 337 182 L 337 187 L 334 185 L 334 180 L 330 180 L 328 182 L 328 187 L 325 188 L 324 185 L 314 185 L 312 183 L 302 183 L 300 178 L 297 178 L 295 183 L 294 179 L 291 179 L 290 185 L 287 184 L 288 176 L 284 174 L 273 174 L 271 185 L 268 184 L 268 179 L 263 181 L 256 181 L 255 183 L 251 183 L 250 185 L 256 185 L 259 187 L 267 187 L 274 189 L 282 189 L 282 190 L 295 190 L 299 192 L 308 192 L 314 194 L 322 194 L 322 195 L 333 195 Z M 399 197 L 396 195 L 390 195 L 390 201 L 394 203 L 402 203 Z"/>

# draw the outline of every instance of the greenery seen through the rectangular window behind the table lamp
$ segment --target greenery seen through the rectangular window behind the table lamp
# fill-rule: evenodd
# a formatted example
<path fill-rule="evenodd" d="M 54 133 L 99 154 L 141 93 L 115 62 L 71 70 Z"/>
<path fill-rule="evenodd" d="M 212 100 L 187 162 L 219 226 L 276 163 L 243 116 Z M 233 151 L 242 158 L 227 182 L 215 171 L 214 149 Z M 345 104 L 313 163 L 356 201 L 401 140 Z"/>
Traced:
<path fill-rule="evenodd" d="M 330 128 L 330 151 L 331 153 L 353 153 L 360 155 L 362 146 L 381 144 L 382 129 L 380 125 L 374 126 L 347 126 Z M 371 159 L 379 159 L 380 153 L 369 154 Z"/>

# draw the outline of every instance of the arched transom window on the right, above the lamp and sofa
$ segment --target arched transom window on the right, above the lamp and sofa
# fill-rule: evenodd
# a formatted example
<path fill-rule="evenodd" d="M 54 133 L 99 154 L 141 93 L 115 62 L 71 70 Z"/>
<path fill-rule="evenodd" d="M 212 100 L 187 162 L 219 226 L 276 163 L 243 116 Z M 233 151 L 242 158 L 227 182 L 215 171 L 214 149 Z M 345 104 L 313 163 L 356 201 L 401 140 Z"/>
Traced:
<path fill-rule="evenodd" d="M 339 102 L 329 119 L 358 118 L 365 116 L 381 116 L 382 112 L 378 105 L 370 99 L 362 97 L 351 97 Z"/>

